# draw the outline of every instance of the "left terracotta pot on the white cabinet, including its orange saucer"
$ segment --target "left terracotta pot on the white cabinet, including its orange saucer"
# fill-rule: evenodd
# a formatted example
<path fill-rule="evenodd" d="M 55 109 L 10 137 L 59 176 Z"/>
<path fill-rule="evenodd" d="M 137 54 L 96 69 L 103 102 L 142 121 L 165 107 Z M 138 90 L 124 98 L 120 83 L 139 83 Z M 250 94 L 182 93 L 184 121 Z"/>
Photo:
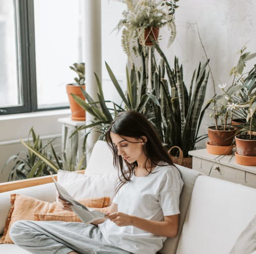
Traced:
<path fill-rule="evenodd" d="M 230 154 L 233 149 L 232 143 L 235 134 L 236 129 L 233 127 L 230 127 L 228 130 L 224 130 L 224 126 L 218 125 L 218 130 L 216 130 L 216 126 L 210 126 L 208 128 L 208 153 L 215 155 Z"/>

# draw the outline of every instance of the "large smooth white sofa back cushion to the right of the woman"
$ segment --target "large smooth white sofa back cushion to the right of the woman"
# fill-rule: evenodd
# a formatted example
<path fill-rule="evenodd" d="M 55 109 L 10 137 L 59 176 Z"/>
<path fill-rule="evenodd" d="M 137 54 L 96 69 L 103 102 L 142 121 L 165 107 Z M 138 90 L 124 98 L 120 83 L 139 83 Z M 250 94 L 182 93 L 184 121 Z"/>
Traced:
<path fill-rule="evenodd" d="M 229 253 L 256 214 L 256 189 L 197 177 L 177 254 Z"/>

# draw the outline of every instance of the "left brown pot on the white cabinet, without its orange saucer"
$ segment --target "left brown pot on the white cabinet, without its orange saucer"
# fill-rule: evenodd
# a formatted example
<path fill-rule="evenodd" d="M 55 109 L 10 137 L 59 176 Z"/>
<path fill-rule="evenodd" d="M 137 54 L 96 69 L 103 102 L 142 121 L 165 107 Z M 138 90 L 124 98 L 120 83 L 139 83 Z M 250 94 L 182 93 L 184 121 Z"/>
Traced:
<path fill-rule="evenodd" d="M 218 125 L 219 130 L 215 126 L 208 127 L 209 144 L 213 146 L 230 146 L 233 143 L 236 129 L 221 130 L 223 126 Z"/>

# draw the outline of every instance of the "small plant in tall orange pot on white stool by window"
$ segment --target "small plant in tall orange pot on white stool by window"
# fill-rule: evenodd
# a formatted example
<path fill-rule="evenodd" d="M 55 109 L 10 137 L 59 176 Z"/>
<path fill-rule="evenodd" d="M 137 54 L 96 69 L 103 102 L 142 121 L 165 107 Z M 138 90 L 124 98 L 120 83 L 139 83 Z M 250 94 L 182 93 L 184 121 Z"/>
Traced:
<path fill-rule="evenodd" d="M 75 82 L 67 84 L 67 94 L 69 99 L 69 105 L 71 109 L 71 118 L 75 121 L 85 121 L 85 111 L 79 104 L 73 99 L 72 94 L 79 96 L 81 99 L 85 100 L 82 90 L 85 90 L 85 64 L 82 62 L 80 64 L 73 64 L 69 68 L 75 71 L 78 78 L 75 78 Z"/>

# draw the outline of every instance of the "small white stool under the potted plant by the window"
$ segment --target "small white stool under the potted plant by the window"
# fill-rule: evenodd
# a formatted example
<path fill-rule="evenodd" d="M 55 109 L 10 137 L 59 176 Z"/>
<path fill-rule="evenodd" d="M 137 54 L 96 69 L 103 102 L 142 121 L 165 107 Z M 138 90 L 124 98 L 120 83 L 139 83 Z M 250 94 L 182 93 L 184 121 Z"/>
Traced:
<path fill-rule="evenodd" d="M 58 122 L 62 124 L 62 135 L 61 135 L 61 150 L 64 153 L 67 144 L 69 142 L 69 137 L 70 135 L 75 132 L 77 128 L 85 124 L 85 121 L 73 121 L 70 117 L 64 117 L 64 118 L 59 118 Z M 84 153 L 82 151 L 82 145 L 83 145 L 83 140 L 82 140 L 82 131 L 78 132 L 74 135 L 73 140 L 77 139 L 77 146 L 78 146 L 78 151 L 77 151 L 77 160 L 80 161 L 82 156 L 84 156 Z M 84 166 L 86 166 L 86 159 L 84 160 Z"/>

